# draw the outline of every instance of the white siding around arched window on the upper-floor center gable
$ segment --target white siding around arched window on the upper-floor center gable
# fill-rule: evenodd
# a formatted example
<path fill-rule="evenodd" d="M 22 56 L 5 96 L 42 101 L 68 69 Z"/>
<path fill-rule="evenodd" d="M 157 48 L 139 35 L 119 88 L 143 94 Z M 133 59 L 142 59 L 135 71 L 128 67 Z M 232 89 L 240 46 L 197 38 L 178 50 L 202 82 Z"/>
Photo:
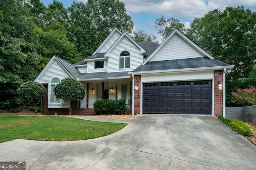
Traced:
<path fill-rule="evenodd" d="M 129 51 L 130 53 L 130 68 L 119 69 L 119 56 L 122 51 Z M 108 58 L 108 72 L 132 71 L 139 67 L 142 62 L 143 55 L 140 53 L 140 48 L 134 45 L 128 38 L 124 37 L 110 53 Z"/>

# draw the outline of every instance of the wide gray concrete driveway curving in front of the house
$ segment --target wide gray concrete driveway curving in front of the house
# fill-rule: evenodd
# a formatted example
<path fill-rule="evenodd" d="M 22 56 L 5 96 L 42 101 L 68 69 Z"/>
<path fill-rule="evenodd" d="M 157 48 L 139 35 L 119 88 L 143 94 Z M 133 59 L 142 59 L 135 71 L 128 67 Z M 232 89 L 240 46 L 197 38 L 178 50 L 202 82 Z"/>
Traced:
<path fill-rule="evenodd" d="M 256 146 L 212 115 L 140 115 L 101 138 L 0 143 L 0 161 L 25 161 L 27 170 L 250 170 Z"/>

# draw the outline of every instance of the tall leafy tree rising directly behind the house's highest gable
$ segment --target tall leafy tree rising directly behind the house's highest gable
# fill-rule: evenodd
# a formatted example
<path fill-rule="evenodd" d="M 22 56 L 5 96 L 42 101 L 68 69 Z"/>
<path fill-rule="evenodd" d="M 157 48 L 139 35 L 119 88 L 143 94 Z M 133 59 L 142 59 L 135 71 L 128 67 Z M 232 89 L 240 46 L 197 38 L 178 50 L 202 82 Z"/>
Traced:
<path fill-rule="evenodd" d="M 88 0 L 73 2 L 70 12 L 70 41 L 84 56 L 92 55 L 114 28 L 131 33 L 134 23 L 119 0 Z"/>

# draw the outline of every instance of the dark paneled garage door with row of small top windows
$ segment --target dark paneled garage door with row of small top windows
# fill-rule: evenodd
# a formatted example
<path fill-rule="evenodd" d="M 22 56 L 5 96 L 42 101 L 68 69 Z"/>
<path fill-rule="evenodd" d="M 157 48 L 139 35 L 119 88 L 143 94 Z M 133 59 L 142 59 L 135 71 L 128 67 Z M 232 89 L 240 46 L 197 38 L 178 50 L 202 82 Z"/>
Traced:
<path fill-rule="evenodd" d="M 143 113 L 204 114 L 212 111 L 212 81 L 143 84 Z"/>

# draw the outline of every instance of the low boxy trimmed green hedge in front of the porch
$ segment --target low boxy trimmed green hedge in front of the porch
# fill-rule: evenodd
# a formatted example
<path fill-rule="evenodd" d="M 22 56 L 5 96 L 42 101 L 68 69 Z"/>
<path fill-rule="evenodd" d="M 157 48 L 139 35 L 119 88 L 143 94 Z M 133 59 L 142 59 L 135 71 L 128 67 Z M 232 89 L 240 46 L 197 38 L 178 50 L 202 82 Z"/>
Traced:
<path fill-rule="evenodd" d="M 126 99 L 96 100 L 93 109 L 99 115 L 120 115 L 127 110 Z"/>

